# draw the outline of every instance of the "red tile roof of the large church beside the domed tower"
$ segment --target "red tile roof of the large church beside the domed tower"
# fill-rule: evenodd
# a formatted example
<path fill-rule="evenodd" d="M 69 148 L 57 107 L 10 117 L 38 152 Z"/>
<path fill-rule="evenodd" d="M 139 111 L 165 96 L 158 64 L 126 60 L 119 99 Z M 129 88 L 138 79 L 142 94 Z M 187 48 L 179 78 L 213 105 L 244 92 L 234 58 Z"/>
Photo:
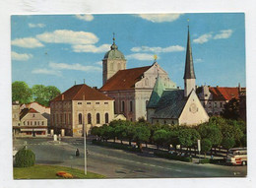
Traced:
<path fill-rule="evenodd" d="M 141 80 L 141 76 L 151 67 L 152 66 L 120 70 L 109 80 L 107 80 L 105 85 L 102 86 L 99 91 L 103 92 L 133 89 L 135 84 Z"/>

